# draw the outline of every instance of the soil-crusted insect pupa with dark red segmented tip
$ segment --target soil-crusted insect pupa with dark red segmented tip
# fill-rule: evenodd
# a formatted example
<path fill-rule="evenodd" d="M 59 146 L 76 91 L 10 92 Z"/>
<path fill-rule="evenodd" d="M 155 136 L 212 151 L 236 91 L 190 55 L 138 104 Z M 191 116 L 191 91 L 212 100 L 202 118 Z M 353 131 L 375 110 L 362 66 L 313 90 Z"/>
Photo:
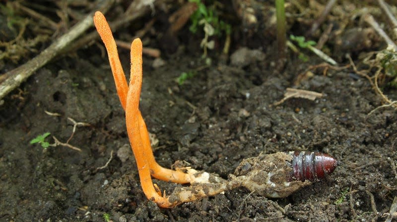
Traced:
<path fill-rule="evenodd" d="M 277 152 L 243 160 L 232 181 L 271 198 L 286 197 L 300 188 L 325 178 L 337 161 L 316 152 Z"/>

